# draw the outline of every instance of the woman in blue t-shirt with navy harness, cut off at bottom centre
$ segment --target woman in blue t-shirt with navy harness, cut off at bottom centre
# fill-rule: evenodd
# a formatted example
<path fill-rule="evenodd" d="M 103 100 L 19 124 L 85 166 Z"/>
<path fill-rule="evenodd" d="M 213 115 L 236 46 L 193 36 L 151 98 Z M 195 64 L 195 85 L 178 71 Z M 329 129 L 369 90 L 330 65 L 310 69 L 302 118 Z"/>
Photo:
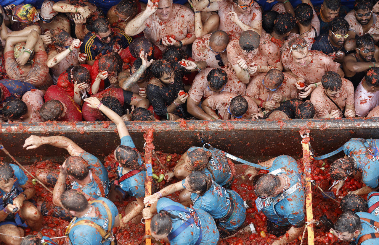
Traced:
<path fill-rule="evenodd" d="M 156 240 L 167 237 L 171 244 L 213 245 L 220 234 L 215 220 L 200 208 L 187 208 L 163 197 L 143 209 L 144 219 L 151 219 L 150 231 Z"/>

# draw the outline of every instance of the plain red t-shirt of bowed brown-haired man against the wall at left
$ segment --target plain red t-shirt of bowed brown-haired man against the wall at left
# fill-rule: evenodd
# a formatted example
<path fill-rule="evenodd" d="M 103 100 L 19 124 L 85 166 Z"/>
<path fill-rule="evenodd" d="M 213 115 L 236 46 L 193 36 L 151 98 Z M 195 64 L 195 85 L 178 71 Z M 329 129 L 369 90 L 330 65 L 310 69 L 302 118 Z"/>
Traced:
<path fill-rule="evenodd" d="M 50 86 L 45 93 L 45 103 L 49 100 L 56 99 L 67 107 L 66 114 L 58 119 L 61 122 L 81 122 L 83 118 L 81 116 L 80 107 L 75 103 L 74 99 L 63 89 L 56 85 Z"/>

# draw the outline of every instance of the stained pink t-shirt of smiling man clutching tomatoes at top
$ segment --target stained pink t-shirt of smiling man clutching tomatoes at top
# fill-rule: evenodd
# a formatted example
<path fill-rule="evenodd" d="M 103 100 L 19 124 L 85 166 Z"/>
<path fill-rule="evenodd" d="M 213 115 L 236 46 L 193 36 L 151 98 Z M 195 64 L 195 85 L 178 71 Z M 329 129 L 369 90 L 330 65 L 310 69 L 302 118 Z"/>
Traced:
<path fill-rule="evenodd" d="M 188 33 L 195 35 L 195 16 L 194 13 L 186 6 L 180 4 L 172 4 L 173 16 L 171 19 L 163 22 L 154 12 L 146 20 L 146 27 L 143 30 L 145 37 L 150 39 L 152 43 L 157 45 L 161 51 L 166 46 L 160 45 L 163 37 L 174 35 L 175 39 L 180 41 L 186 37 Z"/>

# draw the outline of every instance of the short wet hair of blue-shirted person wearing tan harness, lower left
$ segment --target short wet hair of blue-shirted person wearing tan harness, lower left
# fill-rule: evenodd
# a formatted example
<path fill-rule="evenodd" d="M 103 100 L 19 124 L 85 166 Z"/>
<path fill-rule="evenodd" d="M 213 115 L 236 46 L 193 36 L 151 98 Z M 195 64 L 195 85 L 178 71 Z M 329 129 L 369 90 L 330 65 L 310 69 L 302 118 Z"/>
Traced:
<path fill-rule="evenodd" d="M 86 210 L 89 204 L 81 192 L 73 189 L 63 192 L 60 199 L 63 208 L 69 211 L 82 212 Z"/>

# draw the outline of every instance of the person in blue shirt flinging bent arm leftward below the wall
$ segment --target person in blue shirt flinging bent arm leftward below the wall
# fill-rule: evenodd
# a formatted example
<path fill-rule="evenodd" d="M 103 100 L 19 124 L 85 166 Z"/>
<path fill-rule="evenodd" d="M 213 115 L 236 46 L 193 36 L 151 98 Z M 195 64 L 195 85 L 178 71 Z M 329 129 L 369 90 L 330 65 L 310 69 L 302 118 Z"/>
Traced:
<path fill-rule="evenodd" d="M 68 151 L 68 157 L 59 167 L 59 172 L 52 169 L 38 169 L 36 175 L 42 183 L 54 186 L 53 206 L 50 202 L 38 203 L 44 215 L 69 219 L 62 208 L 60 197 L 66 189 L 78 190 L 87 199 L 96 200 L 99 197 L 107 197 L 110 191 L 108 171 L 98 158 L 86 152 L 74 141 L 64 136 L 39 137 L 31 135 L 25 140 L 24 148 L 36 149 L 44 144 L 63 148 Z M 66 178 L 71 180 L 70 186 L 66 185 Z"/>

